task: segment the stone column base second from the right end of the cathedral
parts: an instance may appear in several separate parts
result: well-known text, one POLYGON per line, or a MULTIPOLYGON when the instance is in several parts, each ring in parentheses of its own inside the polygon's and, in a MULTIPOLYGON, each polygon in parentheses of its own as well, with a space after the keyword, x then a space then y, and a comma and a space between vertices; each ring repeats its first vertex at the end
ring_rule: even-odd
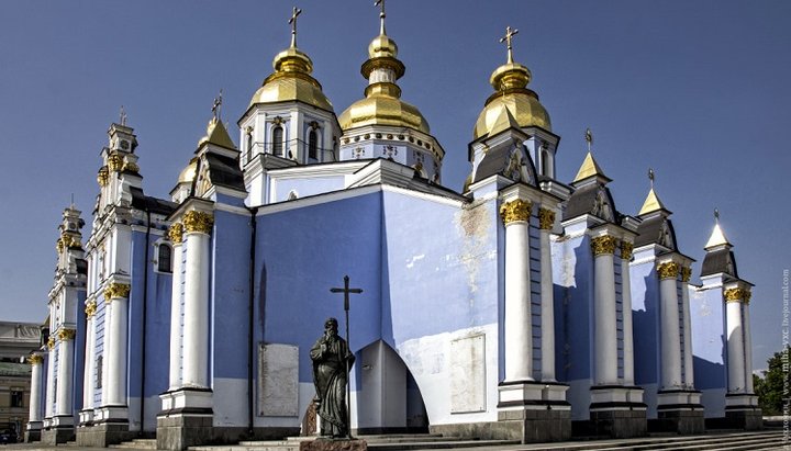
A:
POLYGON ((680 435, 703 433, 703 405, 695 390, 661 390, 657 393, 657 419, 650 421, 651 431, 680 435))

